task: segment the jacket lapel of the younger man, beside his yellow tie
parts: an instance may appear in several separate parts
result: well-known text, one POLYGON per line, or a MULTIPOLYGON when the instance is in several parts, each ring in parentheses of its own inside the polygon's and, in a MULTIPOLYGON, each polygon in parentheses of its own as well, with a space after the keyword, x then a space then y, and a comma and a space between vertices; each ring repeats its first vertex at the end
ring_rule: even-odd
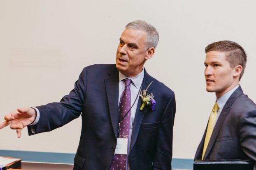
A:
MULTIPOLYGON (((239 86, 235 91, 234 93, 229 97, 228 101, 226 102, 226 104, 224 105, 220 115, 219 115, 219 118, 216 122, 216 125, 212 131, 212 136, 210 138, 210 141, 209 141, 209 144, 207 146, 207 149, 205 151, 205 156, 204 156, 204 159, 208 156, 209 152, 212 150, 212 146, 214 145, 215 141, 216 141, 216 138, 219 134, 219 131, 221 129, 221 126, 224 122, 224 120, 226 119, 230 109, 231 109, 231 106, 233 104, 233 102, 237 99, 238 96, 242 95, 243 94, 243 91, 242 91, 242 88, 239 86)), ((205 136, 205 135, 204 135, 205 136)), ((203 147, 203 145, 202 145, 203 147)))

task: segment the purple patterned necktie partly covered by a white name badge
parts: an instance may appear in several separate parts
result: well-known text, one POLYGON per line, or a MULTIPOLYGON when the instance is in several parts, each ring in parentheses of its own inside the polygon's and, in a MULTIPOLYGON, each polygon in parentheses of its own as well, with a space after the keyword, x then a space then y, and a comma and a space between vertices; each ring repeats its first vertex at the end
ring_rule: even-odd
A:
MULTIPOLYGON (((130 133, 130 83, 131 79, 123 79, 126 84, 125 89, 120 97, 119 103, 119 138, 128 138, 130 133)), ((110 170, 126 170, 127 155, 114 154, 110 170)))

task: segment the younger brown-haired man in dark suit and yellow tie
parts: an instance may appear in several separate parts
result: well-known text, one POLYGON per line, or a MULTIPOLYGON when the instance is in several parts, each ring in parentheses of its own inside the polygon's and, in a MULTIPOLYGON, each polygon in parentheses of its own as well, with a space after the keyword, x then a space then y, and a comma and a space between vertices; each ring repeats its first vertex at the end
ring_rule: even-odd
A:
POLYGON ((215 92, 216 103, 195 159, 256 161, 256 104, 239 85, 247 54, 233 41, 212 43, 205 52, 206 90, 215 92))

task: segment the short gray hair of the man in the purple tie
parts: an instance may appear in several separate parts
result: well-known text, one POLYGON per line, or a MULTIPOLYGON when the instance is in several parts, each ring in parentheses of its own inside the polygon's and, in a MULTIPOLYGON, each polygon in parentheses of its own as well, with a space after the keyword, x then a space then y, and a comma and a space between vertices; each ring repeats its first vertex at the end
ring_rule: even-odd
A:
POLYGON ((133 22, 128 23, 126 25, 126 28, 141 29, 141 30, 147 32, 147 39, 145 41, 145 45, 146 45, 145 50, 147 50, 151 47, 156 48, 156 46, 158 44, 158 40, 159 40, 159 34, 153 25, 147 23, 144 20, 135 20, 133 22))

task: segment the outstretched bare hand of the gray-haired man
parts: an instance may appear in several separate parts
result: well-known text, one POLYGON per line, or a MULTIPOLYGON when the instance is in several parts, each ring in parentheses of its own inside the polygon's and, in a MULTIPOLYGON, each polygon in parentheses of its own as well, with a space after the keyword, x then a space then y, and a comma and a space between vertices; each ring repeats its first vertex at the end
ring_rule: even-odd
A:
POLYGON ((5 115, 5 121, 0 123, 0 129, 10 125, 11 129, 16 129, 18 138, 21 137, 21 130, 35 121, 37 112, 31 107, 18 108, 5 115))

